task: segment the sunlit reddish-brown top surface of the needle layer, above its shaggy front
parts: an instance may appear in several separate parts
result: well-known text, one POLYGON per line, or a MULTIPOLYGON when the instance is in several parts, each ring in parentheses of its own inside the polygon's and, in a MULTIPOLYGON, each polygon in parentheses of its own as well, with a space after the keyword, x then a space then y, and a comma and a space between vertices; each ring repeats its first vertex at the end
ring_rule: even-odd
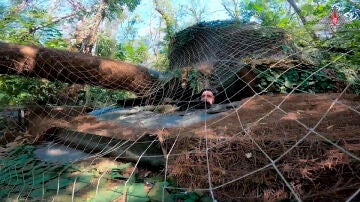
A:
MULTIPOLYGON (((271 135, 277 133, 269 130, 283 128, 286 124, 286 127, 288 129, 291 127, 292 130, 288 135, 297 136, 296 134, 299 132, 297 130, 301 132, 303 130, 301 128, 304 128, 297 127, 300 126, 298 122, 309 128, 314 127, 338 96, 339 94, 293 94, 288 97, 286 95, 263 95, 244 99, 236 111, 229 109, 220 118, 208 120, 206 133, 208 137, 214 135, 216 138, 220 138, 237 136, 243 132, 244 128, 252 130, 266 128, 268 130, 266 137, 272 138, 271 135), (282 101, 281 110, 276 109, 276 105, 282 101), (295 124, 296 127, 291 124, 295 124)), ((338 136, 340 132, 344 136, 352 134, 353 131, 359 131, 359 110, 360 96, 343 95, 332 106, 324 120, 317 126, 316 131, 325 132, 329 136, 338 136)), ((49 127, 62 126, 118 138, 137 138, 144 133, 160 133, 165 138, 168 135, 170 137, 176 135, 179 131, 181 136, 194 137, 194 133, 196 136, 205 134, 204 122, 186 128, 149 130, 130 125, 119 125, 114 122, 97 121, 93 116, 84 115, 84 113, 84 109, 81 108, 35 109, 29 118, 28 131, 30 134, 39 135, 49 127)))

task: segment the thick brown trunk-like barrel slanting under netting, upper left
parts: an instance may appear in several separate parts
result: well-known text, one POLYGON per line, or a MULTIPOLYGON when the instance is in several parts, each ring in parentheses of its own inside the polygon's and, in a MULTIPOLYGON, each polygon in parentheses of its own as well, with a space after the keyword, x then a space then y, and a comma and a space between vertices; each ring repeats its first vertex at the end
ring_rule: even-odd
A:
POLYGON ((91 55, 0 42, 0 74, 90 84, 108 89, 151 93, 157 79, 145 67, 91 55))

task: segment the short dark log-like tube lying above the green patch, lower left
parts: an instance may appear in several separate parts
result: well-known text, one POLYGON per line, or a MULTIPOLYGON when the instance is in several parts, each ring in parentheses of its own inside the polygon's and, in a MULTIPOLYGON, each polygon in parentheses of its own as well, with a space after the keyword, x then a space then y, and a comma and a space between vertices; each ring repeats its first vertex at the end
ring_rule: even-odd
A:
POLYGON ((126 138, 111 138, 84 133, 66 128, 54 127, 46 132, 49 140, 60 141, 64 145, 82 149, 91 154, 115 157, 117 160, 139 162, 148 168, 165 165, 164 153, 156 135, 144 135, 137 141, 126 138))

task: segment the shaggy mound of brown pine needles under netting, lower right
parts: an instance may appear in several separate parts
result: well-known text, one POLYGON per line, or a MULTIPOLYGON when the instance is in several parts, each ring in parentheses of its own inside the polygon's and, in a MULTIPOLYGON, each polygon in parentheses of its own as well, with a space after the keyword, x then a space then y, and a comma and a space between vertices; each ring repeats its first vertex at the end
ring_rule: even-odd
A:
MULTIPOLYGON (((208 162, 216 198, 275 201, 290 197, 289 190, 276 175, 269 159, 251 137, 270 158, 277 160, 277 167, 292 182, 292 188, 302 199, 331 201, 346 198, 360 185, 358 160, 316 134, 309 133, 297 122, 309 127, 316 125, 337 96, 293 95, 281 107, 287 114, 275 110, 259 122, 258 119, 274 108, 267 101, 276 105, 283 97, 260 96, 250 98, 248 102, 245 100, 237 113, 246 133, 239 125, 233 124, 232 120, 237 120, 235 112, 229 112, 220 121, 209 121, 207 138, 203 125, 186 128, 172 150, 174 155, 169 157, 169 176, 189 190, 206 189, 209 186, 208 162), (208 141, 207 147, 205 141, 208 141), (207 148, 209 161, 205 154, 207 148)), ((331 109, 316 131, 359 156, 360 117, 348 106, 358 108, 360 97, 349 95, 339 101, 341 103, 331 109)), ((172 134, 176 134, 176 130, 172 134)), ((173 139, 167 141, 171 145, 173 139)))

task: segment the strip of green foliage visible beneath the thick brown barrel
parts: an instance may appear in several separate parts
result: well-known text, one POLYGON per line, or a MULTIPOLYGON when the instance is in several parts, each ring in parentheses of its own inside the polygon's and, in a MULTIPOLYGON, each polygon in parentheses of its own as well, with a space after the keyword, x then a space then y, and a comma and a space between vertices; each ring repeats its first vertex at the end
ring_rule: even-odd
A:
MULTIPOLYGON (((68 85, 65 83, 49 82, 45 79, 3 75, 0 76, 0 106, 64 104, 61 99, 65 97, 58 96, 66 86, 68 85)), ((123 90, 109 90, 97 86, 89 88, 92 106, 113 105, 119 99, 133 97, 132 93, 123 90)), ((80 91, 77 98, 70 98, 65 104, 84 105, 85 102, 85 91, 80 91)))

